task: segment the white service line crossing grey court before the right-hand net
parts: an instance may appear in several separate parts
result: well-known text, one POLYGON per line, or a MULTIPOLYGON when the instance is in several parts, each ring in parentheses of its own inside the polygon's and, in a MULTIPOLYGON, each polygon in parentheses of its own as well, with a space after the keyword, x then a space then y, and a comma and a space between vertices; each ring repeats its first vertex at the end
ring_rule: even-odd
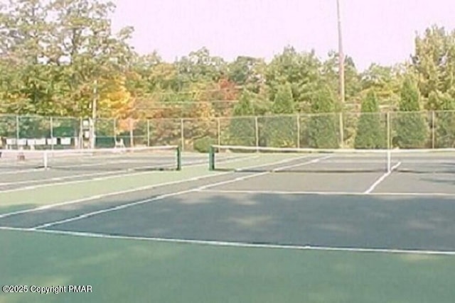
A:
POLYGON ((315 195, 315 196, 384 196, 384 197, 455 197, 454 194, 443 192, 304 192, 304 191, 285 191, 285 190, 242 190, 242 189, 200 189, 198 192, 213 194, 295 194, 295 195, 315 195))

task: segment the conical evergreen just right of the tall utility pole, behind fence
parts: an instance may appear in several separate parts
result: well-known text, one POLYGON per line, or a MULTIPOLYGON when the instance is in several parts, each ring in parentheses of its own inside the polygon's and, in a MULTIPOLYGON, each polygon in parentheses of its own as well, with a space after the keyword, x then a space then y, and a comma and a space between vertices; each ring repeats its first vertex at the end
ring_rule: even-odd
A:
POLYGON ((381 126, 378 99, 369 91, 362 102, 362 114, 358 121, 355 148, 384 148, 384 128, 381 126))

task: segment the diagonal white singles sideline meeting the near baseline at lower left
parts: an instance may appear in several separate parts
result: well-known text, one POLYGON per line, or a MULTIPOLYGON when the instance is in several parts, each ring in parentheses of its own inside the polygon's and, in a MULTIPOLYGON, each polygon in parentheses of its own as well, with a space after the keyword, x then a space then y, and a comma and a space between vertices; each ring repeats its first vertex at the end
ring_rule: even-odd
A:
MULTIPOLYGON (((297 160, 297 159, 300 159, 300 158, 308 158, 308 156, 281 160, 281 161, 278 161, 278 162, 274 162, 274 165, 285 163, 285 162, 291 162, 292 160, 297 160)), ((314 160, 316 160, 316 159, 314 159, 314 160)), ((314 160, 311 160, 308 163, 314 162, 314 160)), ((272 165, 272 164, 269 163, 269 165, 272 165)), ((262 165, 262 166, 265 166, 265 165, 262 165)), ((230 173, 232 173, 232 172, 224 172, 224 173, 221 173, 219 175, 227 175, 227 174, 230 174, 230 173)), ((127 209, 127 208, 129 208, 131 206, 137 206, 137 205, 141 205, 141 204, 156 202, 156 201, 159 201, 159 200, 162 200, 162 199, 166 199, 168 197, 174 197, 174 196, 178 196, 178 195, 181 195, 181 194, 188 194, 190 192, 198 192, 198 191, 200 191, 200 189, 206 189, 208 187, 215 187, 215 186, 218 186, 218 185, 221 185, 221 184, 228 184, 228 183, 232 183, 232 182, 247 180, 247 179, 250 179, 250 178, 253 178, 253 177, 259 177, 261 175, 266 175, 268 173, 270 173, 270 172, 259 172, 259 173, 252 174, 252 175, 247 175, 247 176, 244 176, 244 177, 236 177, 234 179, 225 180, 225 181, 222 181, 222 182, 210 183, 210 184, 203 185, 203 186, 200 186, 200 187, 196 187, 196 188, 193 188, 193 189, 186 189, 186 190, 183 190, 183 191, 180 191, 180 192, 171 192, 169 194, 161 194, 161 195, 159 195, 157 197, 154 197, 154 198, 151 198, 151 199, 144 199, 144 200, 141 200, 141 201, 132 202, 132 203, 128 203, 128 204, 122 204, 122 205, 110 207, 110 208, 107 208, 107 209, 100 209, 99 211, 92 211, 92 212, 81 214, 81 215, 78 215, 78 216, 74 216, 74 217, 71 217, 71 218, 68 218, 68 219, 63 219, 63 220, 60 220, 60 221, 53 221, 53 222, 49 222, 49 223, 46 223, 46 224, 41 224, 41 225, 35 226, 33 228, 34 229, 48 228, 48 227, 55 226, 55 225, 61 225, 61 224, 65 224, 65 223, 69 223, 69 222, 73 222, 73 221, 78 221, 80 219, 87 219, 87 218, 89 218, 91 216, 97 216, 99 214, 106 214, 108 212, 118 211, 120 209, 127 209)), ((213 175, 208 175, 208 177, 213 177, 213 175)))

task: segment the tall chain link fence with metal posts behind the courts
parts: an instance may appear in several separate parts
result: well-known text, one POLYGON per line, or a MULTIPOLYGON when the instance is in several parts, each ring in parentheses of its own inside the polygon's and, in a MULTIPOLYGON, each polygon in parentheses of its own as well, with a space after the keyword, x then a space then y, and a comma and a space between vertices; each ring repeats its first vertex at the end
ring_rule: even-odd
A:
MULTIPOLYGON (((87 148, 90 121, 0 115, 0 147, 87 148)), ((455 148, 455 111, 232 116, 203 119, 97 119, 95 148, 210 145, 277 148, 455 148)))

